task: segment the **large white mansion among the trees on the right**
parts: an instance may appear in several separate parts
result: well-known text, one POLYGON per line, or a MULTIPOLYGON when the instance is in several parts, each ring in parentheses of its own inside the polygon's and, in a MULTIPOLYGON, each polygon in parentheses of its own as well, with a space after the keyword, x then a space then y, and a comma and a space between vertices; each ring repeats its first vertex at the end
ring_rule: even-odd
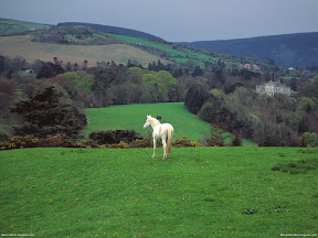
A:
POLYGON ((292 90, 290 87, 279 82, 267 82, 262 85, 256 85, 256 93, 274 96, 275 94, 282 94, 288 97, 295 96, 297 93, 292 90))

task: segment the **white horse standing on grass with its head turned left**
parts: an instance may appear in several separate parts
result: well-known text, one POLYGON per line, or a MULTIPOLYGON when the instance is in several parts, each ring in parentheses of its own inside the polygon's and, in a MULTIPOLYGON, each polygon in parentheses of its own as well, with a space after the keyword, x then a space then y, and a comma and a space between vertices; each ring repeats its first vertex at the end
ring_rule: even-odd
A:
POLYGON ((167 139, 168 139, 168 153, 171 153, 171 140, 173 136, 173 127, 170 123, 160 123, 156 118, 147 115, 146 123, 144 125, 144 129, 152 127, 152 139, 153 139, 153 154, 152 158, 156 156, 156 145, 157 140, 161 138, 162 140, 162 149, 163 149, 163 160, 167 159, 167 139))

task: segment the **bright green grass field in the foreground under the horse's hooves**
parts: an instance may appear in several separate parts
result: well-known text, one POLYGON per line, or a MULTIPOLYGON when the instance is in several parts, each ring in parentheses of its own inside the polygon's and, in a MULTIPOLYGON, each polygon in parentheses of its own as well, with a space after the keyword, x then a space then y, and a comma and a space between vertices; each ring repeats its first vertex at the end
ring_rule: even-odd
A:
POLYGON ((1 234, 280 237, 317 234, 317 149, 23 149, 0 152, 1 234), (295 169, 295 167, 294 167, 295 169), (299 171, 303 172, 303 171, 299 171))

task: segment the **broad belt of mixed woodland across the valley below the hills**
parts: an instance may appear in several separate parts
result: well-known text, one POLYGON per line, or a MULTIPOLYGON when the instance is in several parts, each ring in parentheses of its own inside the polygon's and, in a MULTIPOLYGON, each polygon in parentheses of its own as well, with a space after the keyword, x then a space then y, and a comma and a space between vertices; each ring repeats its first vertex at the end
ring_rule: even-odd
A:
POLYGON ((280 79, 297 97, 269 97, 255 87, 273 79, 273 72, 229 71, 222 64, 189 71, 160 61, 147 68, 130 61, 87 65, 0 56, 0 138, 30 131, 78 137, 87 123, 85 108, 184 101, 202 120, 259 145, 317 145, 318 76, 280 79), (28 68, 34 73, 25 73, 28 68), (52 127, 62 119, 59 128, 52 127), (40 125, 43 120, 49 122, 40 125))

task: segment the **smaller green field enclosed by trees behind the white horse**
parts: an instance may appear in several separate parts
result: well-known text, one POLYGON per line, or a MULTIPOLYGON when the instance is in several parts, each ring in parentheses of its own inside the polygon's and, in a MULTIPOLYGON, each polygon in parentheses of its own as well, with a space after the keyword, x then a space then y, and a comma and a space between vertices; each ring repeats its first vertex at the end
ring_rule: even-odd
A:
MULTIPOLYGON (((86 137, 93 131, 99 130, 135 130, 144 137, 152 133, 152 129, 144 130, 147 115, 152 117, 161 116, 161 122, 171 123, 174 128, 174 139, 183 136, 192 141, 199 141, 204 134, 210 133, 210 125, 202 121, 195 115, 189 112, 183 102, 171 104, 142 104, 120 105, 107 108, 86 109, 88 126, 84 133, 86 137)), ((255 145, 254 142, 244 140, 244 145, 255 145)))

